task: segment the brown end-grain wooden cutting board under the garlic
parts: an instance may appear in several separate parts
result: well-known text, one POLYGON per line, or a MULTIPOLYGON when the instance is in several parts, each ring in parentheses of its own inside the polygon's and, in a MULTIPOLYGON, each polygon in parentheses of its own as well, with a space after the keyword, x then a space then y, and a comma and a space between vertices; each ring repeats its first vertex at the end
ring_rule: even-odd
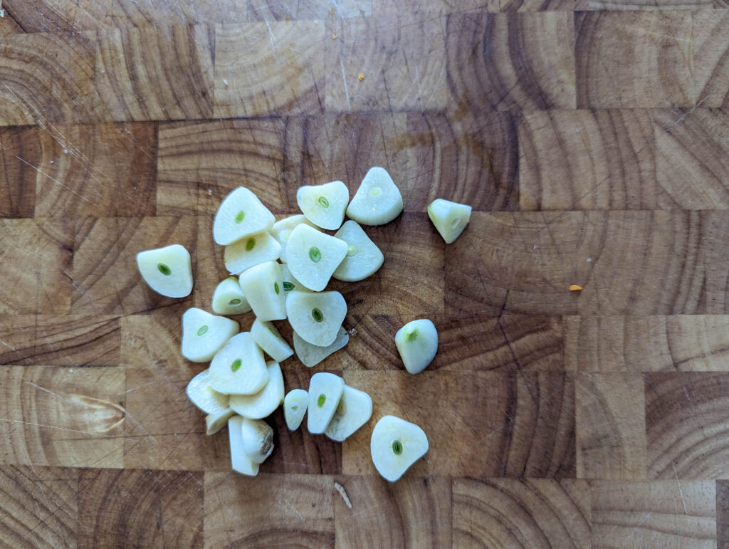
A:
POLYGON ((727 7, 4 0, 1 545, 727 546, 727 7), (179 354, 225 276, 212 215, 371 166, 405 199, 367 229, 385 264, 331 285, 346 349, 282 367, 340 373, 373 419, 339 444, 277 412, 233 474, 179 354), (448 246, 437 197, 474 210, 448 246), (183 300, 135 266, 171 243, 183 300), (421 317, 440 348, 411 376, 393 337, 421 317), (387 413, 430 441, 395 484, 387 413))

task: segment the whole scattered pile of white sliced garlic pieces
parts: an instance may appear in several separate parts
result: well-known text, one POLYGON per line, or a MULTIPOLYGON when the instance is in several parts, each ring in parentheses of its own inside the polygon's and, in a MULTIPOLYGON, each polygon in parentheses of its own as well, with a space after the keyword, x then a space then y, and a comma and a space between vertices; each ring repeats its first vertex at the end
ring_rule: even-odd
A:
MULTIPOLYGON (((215 288, 211 308, 216 314, 193 307, 182 315, 182 355, 210 362, 192 378, 187 396, 207 414, 208 435, 227 424, 231 464, 243 475, 257 475, 273 451, 273 429, 263 419, 282 403, 289 429, 298 429, 308 412, 308 431, 337 441, 346 440, 373 413, 370 395, 332 373, 316 373, 308 391, 284 395, 280 363, 296 352, 313 367, 346 346, 347 305, 340 292, 326 291, 327 284, 332 278, 359 281, 381 268, 383 253, 361 225, 392 221, 402 211, 402 195, 387 171, 375 167, 351 201, 346 184, 335 181, 300 187, 297 203, 303 214, 276 222, 246 187, 230 192, 215 216, 213 237, 225 246, 231 276, 215 288), (238 322, 223 316, 249 311, 255 315, 249 332, 240 332, 238 322), (294 349, 273 324, 284 319, 293 329, 294 349)), ((464 230, 470 211, 442 199, 428 208, 448 243, 464 230)), ((191 261, 183 246, 140 252, 137 263, 155 291, 190 295, 191 261)), ((429 320, 418 319, 405 324, 395 342, 406 369, 419 373, 436 354, 437 330, 429 320)), ((428 440, 416 424, 384 416, 375 425, 370 450, 378 472, 394 481, 426 453, 428 440)))

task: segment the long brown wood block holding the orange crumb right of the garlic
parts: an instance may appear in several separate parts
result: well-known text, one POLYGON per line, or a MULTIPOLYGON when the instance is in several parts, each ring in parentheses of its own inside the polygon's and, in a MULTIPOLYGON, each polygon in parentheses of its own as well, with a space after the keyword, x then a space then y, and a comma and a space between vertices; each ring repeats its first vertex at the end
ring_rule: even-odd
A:
POLYGON ((446 311, 708 312, 706 287, 722 276, 714 273, 722 252, 708 244, 710 219, 668 211, 474 213, 445 251, 446 311), (478 252, 464 263, 467 250, 478 252), (583 289, 569 292, 570 284, 583 289))

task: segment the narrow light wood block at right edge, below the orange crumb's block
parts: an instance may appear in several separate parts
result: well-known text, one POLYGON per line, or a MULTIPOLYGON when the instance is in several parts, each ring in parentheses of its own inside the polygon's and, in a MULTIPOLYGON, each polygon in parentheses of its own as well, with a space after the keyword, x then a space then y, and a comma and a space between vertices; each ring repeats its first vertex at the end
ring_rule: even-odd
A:
POLYGON ((599 372, 729 369, 727 318, 722 315, 568 316, 567 369, 599 372))

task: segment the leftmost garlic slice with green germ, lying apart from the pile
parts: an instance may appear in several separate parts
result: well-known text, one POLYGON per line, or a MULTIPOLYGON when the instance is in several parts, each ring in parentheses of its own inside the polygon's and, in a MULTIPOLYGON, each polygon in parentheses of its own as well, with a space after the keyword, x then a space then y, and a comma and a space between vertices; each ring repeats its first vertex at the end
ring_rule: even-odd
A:
POLYGON ((145 250, 136 255, 141 278, 160 295, 187 297, 192 292, 190 252, 180 244, 145 250))

